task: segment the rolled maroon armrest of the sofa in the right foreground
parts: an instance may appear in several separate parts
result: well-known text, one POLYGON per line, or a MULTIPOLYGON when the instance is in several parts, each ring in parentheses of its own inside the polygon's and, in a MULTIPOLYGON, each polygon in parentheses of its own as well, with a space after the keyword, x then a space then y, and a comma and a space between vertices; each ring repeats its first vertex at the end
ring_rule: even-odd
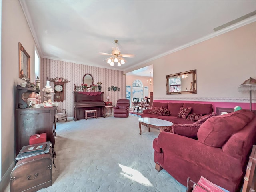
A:
MULTIPOLYGON (((225 154, 221 148, 207 146, 198 140, 181 135, 160 132, 158 146, 168 155, 178 156, 188 162, 207 168, 214 174, 233 172, 235 176, 242 175, 240 159, 225 154)), ((228 176, 228 175, 227 175, 228 176)))

